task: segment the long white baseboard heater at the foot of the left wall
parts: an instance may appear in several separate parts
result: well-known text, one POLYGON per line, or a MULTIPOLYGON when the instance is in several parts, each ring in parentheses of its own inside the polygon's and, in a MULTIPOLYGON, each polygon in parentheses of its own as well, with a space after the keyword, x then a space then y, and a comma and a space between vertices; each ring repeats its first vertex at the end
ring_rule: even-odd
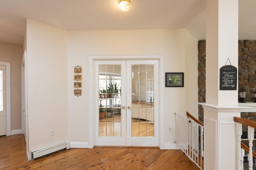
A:
POLYGON ((51 145, 49 147, 44 147, 42 149, 34 150, 32 151, 32 159, 39 158, 41 156, 45 156, 62 149, 70 149, 70 142, 64 141, 61 143, 57 143, 55 145, 51 145))

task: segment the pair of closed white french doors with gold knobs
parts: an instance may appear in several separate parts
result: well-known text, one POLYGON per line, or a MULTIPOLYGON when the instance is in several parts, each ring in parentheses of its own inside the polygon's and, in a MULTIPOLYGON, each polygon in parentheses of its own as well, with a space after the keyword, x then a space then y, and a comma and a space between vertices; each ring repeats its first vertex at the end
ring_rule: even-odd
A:
POLYGON ((96 61, 95 144, 158 146, 158 61, 96 61))

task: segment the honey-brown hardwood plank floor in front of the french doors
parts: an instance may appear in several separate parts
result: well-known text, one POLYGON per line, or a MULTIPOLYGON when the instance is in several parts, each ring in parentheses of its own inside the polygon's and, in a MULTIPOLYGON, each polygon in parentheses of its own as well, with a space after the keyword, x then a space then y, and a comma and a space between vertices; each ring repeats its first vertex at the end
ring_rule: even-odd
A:
POLYGON ((0 137, 4 170, 199 170, 181 150, 138 147, 68 149, 28 161, 22 134, 0 137))

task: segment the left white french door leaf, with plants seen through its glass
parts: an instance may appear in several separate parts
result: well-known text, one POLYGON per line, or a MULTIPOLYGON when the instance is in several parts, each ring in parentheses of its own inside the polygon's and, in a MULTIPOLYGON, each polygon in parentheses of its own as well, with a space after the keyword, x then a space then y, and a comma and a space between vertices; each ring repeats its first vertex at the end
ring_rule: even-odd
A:
POLYGON ((95 145, 125 146, 126 61, 96 61, 95 68, 95 84, 98 87, 95 93, 98 96, 95 145), (119 90, 114 92, 112 85, 119 90))

